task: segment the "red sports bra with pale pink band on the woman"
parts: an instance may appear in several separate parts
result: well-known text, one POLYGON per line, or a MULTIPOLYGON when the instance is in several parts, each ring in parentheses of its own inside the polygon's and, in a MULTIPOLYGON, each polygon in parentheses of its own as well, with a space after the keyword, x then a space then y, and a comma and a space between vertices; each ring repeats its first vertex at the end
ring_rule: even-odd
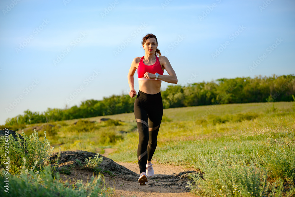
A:
MULTIPOLYGON (((148 79, 145 79, 145 76, 144 74, 146 72, 149 72, 149 73, 153 73, 155 74, 156 72, 163 75, 164 71, 162 70, 162 66, 160 64, 160 61, 159 61, 159 58, 156 57, 156 62, 155 64, 153 65, 145 65, 145 63, 143 63, 143 57, 140 59, 140 62, 139 62, 139 65, 138 65, 138 68, 137 68, 137 75, 138 75, 138 80, 148 80, 148 79)), ((155 79, 149 79, 149 80, 155 80, 155 79)), ((160 79, 157 79, 157 80, 160 80, 160 79)), ((161 81, 161 80, 160 80, 161 81)))

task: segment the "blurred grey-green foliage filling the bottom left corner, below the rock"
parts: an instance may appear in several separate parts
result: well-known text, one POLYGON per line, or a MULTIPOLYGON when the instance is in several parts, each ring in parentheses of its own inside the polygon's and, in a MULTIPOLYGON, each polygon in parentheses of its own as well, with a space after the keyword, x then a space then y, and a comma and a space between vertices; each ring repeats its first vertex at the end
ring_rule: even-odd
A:
MULTIPOLYGON (((25 159, 24 159, 25 161, 25 159)), ((25 164, 25 162, 24 162, 25 164)), ((26 164, 25 164, 26 165, 26 164)), ((1 188, 4 188, 6 176, 9 180, 9 190, 2 191, 2 196, 35 196, 35 197, 80 197, 80 196, 109 196, 113 189, 106 188, 102 182, 101 175, 92 176, 91 181, 85 185, 82 180, 78 180, 72 187, 69 183, 59 182, 59 174, 55 173, 55 178, 51 175, 50 167, 44 168, 44 171, 36 171, 36 166, 28 170, 22 167, 19 175, 5 175, 5 171, 0 172, 1 188)))

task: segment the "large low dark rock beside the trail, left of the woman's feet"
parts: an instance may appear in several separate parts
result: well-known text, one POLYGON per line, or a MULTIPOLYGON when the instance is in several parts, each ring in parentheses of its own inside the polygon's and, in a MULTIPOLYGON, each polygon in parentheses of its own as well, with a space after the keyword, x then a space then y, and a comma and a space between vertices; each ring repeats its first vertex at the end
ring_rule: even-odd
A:
MULTIPOLYGON (((52 154, 52 156, 49 158, 49 161, 51 163, 56 163, 57 155, 59 152, 55 152, 52 154)), ((89 159, 89 157, 94 158, 96 156, 96 153, 93 152, 87 152, 87 151, 61 151, 60 157, 58 161, 58 170, 60 170, 61 167, 69 167, 70 165, 74 165, 76 167, 79 167, 78 162, 76 159, 81 160, 82 162, 86 159, 89 159)), ((107 157, 104 157, 102 155, 99 155, 102 157, 102 163, 99 165, 99 168, 102 170, 109 170, 114 175, 131 175, 131 176, 137 176, 135 172, 132 172, 131 170, 127 169, 124 166, 121 166, 114 162, 112 159, 109 159, 107 157)), ((54 165, 54 164, 53 164, 54 165)))

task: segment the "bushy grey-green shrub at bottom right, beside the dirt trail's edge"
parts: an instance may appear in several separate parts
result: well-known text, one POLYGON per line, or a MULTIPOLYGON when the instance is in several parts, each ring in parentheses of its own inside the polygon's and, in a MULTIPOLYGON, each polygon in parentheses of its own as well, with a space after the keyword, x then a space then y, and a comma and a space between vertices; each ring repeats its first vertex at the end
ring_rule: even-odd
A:
POLYGON ((253 163, 247 165, 225 155, 219 155, 218 160, 204 158, 202 163, 203 178, 191 175, 196 185, 190 187, 197 196, 256 196, 264 191, 259 187, 266 185, 266 172, 253 163))

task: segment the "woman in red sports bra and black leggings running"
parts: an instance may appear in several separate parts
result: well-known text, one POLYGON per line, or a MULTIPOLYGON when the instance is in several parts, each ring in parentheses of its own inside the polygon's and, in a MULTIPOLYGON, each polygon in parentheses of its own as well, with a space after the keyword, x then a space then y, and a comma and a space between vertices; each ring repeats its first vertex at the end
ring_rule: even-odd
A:
POLYGON ((157 146, 157 136, 163 116, 161 82, 177 84, 177 77, 165 56, 161 56, 155 35, 147 34, 142 38, 145 56, 134 58, 128 73, 130 97, 136 96, 134 73, 137 69, 139 91, 134 102, 134 115, 139 133, 137 159, 140 169, 138 182, 146 185, 148 177, 154 175, 153 154, 157 146), (158 56, 159 57, 158 57, 158 56), (163 75, 166 69, 169 75, 163 75))

